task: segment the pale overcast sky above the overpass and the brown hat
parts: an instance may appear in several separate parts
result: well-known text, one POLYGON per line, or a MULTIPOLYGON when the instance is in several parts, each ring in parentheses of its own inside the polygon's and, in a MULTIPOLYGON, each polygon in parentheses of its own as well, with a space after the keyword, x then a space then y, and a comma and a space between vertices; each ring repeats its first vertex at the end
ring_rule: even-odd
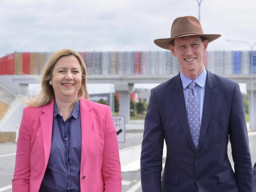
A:
MULTIPOLYGON (((176 17, 198 17, 197 0, 0 0, 0 57, 17 52, 160 51, 176 17)), ((249 50, 256 42, 255 0, 202 0, 208 50, 249 50)), ((256 46, 254 46, 256 50, 256 46)))

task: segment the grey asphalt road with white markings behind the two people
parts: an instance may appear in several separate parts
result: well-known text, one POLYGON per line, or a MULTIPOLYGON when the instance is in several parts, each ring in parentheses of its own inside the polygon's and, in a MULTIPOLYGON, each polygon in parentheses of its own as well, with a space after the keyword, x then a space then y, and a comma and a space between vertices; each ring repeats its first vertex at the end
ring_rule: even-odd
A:
MULTIPOLYGON (((254 135, 249 135, 251 149, 254 149, 253 146, 255 146, 256 143, 256 137, 254 137, 254 135)), ((119 143, 119 154, 122 168, 122 192, 142 191, 139 168, 142 137, 142 133, 126 133, 126 142, 119 143)), ((16 143, 0 144, 0 192, 11 192, 11 180, 13 178, 15 165, 15 152, 16 143)), ((251 151, 251 154, 254 154, 254 151, 251 151)), ((230 157, 230 162, 233 165, 230 144, 228 145, 228 156, 230 157)), ((255 155, 252 155, 252 157, 254 156, 255 155)), ((163 162, 165 162, 165 157, 163 158, 163 162)))

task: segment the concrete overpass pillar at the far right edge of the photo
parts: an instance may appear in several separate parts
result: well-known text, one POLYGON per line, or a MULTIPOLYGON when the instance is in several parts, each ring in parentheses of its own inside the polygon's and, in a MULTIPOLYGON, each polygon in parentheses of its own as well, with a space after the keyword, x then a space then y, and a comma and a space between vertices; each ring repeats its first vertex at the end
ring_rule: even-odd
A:
POLYGON ((251 83, 247 82, 247 94, 249 98, 249 122, 250 122, 250 130, 256 130, 256 83, 253 83, 253 91, 251 89, 251 83), (253 98, 251 95, 253 92, 253 98), (253 99, 253 100, 252 100, 253 99))

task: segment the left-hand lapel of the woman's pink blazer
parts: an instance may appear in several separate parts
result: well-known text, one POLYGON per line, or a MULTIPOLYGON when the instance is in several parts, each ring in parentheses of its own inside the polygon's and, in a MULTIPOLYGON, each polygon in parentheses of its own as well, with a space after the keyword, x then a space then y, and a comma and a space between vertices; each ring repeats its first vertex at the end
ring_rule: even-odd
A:
POLYGON ((48 163, 52 142, 53 108, 54 100, 52 100, 51 103, 43 106, 42 112, 44 114, 40 117, 43 146, 45 150, 45 167, 48 163))

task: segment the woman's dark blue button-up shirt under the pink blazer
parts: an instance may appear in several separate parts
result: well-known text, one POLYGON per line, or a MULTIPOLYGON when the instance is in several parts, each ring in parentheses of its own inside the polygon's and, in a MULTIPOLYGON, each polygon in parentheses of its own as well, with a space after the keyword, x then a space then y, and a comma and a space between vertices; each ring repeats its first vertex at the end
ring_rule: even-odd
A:
POLYGON ((81 119, 80 104, 66 121, 54 100, 50 157, 40 192, 80 192, 81 119))

